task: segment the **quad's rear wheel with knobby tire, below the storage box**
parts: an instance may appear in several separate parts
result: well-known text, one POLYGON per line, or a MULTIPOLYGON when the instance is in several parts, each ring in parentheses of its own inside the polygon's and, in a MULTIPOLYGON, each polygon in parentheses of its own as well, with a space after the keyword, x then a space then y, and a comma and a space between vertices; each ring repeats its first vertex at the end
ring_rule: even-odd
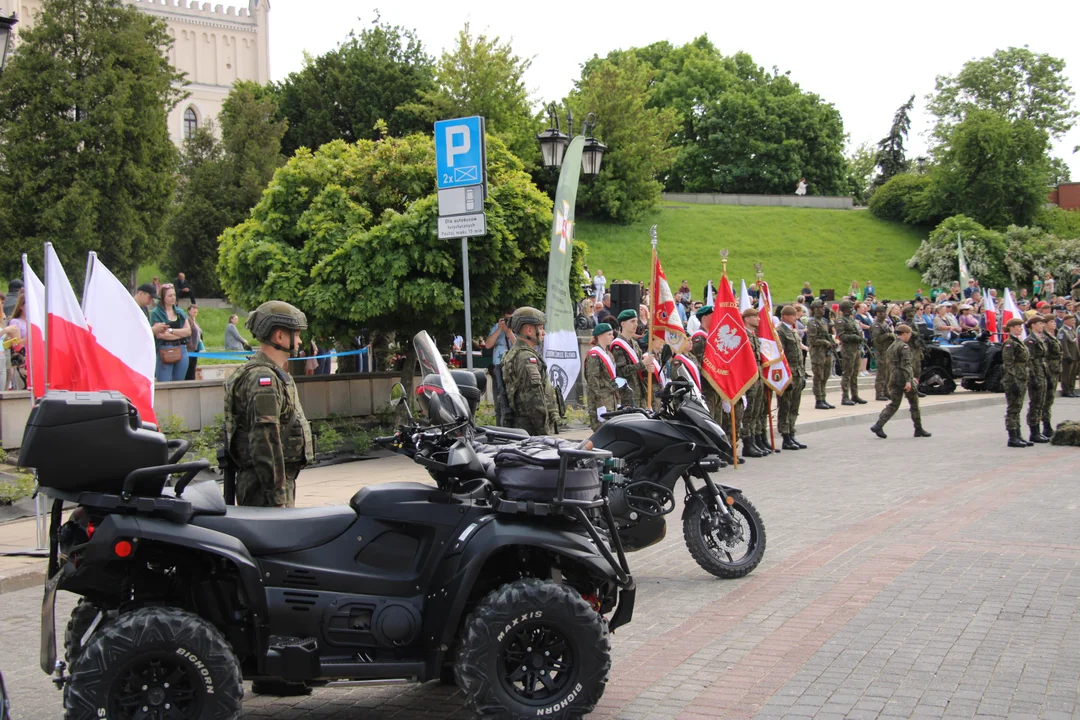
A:
POLYGON ((243 696, 240 665, 217 628, 183 610, 141 608, 90 637, 64 689, 64 717, 234 720, 243 696))

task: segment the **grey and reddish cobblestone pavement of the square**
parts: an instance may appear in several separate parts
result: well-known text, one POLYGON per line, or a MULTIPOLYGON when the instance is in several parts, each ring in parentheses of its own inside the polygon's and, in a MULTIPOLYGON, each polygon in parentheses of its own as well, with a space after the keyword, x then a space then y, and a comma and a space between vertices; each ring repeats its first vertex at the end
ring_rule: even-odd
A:
MULTIPOLYGON (((1080 420, 1058 399, 1057 420, 1080 420)), ((1003 407, 808 435, 751 460, 765 561, 719 581, 675 525, 631 556, 634 622, 594 718, 1080 717, 1080 449, 1004 447, 1003 407)), ((0 596, 15 718, 55 718, 37 669, 41 593, 0 596)), ((63 617, 71 606, 64 598, 63 617)), ((245 718, 464 718, 435 683, 249 696, 245 718)))

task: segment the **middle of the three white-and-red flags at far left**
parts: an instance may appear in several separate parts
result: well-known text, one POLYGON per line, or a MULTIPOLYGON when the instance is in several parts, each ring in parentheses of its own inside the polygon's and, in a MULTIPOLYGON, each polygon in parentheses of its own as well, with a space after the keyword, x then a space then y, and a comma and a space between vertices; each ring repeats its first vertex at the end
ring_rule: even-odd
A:
POLYGON ((45 288, 49 389, 103 390, 98 385, 97 342, 52 243, 45 243, 45 288))

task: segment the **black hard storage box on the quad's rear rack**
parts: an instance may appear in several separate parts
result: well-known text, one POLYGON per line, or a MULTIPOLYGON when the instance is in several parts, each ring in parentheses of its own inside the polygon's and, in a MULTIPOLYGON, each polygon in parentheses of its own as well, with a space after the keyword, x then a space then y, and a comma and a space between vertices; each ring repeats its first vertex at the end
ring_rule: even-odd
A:
MULTIPOLYGON (((168 462, 165 436, 145 430, 118 392, 50 391, 30 410, 18 464, 38 471, 41 487, 119 493, 134 470, 168 462)), ((167 476, 136 488, 157 495, 167 476)))

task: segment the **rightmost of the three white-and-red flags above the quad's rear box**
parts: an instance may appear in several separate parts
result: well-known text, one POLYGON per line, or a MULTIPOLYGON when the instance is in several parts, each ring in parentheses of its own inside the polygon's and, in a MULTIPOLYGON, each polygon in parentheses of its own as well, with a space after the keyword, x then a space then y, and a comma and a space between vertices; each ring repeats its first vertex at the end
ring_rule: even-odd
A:
POLYGON ((127 288, 90 254, 90 276, 82 310, 95 342, 98 388, 116 390, 132 402, 139 418, 157 423, 153 413, 153 332, 127 288))

